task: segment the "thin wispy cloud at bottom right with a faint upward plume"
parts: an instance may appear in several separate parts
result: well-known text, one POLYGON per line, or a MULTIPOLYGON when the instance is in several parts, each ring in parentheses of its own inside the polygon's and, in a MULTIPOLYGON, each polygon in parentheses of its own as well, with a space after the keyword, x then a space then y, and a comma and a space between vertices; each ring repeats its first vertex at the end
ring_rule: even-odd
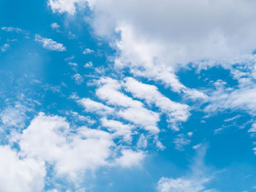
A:
POLYGON ((206 188, 206 184, 213 179, 213 174, 203 164, 203 158, 206 153, 206 147, 201 146, 197 149, 197 155, 191 166, 192 172, 184 177, 166 178, 162 177, 157 189, 159 192, 217 192, 215 189, 206 188))

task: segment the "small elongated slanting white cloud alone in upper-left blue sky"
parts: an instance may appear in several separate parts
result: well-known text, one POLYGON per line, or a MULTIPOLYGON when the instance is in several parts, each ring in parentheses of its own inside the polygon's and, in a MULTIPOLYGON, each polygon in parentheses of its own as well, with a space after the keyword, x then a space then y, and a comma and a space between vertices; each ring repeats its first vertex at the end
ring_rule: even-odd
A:
POLYGON ((53 39, 47 39, 44 37, 41 37, 39 34, 35 35, 36 42, 39 42, 42 44, 42 47, 44 47, 47 50, 56 50, 56 51, 66 51, 67 48, 64 47, 61 43, 54 42, 53 39))

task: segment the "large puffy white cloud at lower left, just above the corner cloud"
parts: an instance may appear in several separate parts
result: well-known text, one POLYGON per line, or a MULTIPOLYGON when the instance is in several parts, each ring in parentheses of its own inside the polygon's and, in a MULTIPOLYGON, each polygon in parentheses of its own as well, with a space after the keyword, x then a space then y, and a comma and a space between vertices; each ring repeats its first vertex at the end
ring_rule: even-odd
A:
POLYGON ((105 131, 80 127, 71 132, 58 116, 40 113, 20 135, 20 153, 47 161, 57 175, 77 179, 78 173, 108 165, 114 143, 105 131))

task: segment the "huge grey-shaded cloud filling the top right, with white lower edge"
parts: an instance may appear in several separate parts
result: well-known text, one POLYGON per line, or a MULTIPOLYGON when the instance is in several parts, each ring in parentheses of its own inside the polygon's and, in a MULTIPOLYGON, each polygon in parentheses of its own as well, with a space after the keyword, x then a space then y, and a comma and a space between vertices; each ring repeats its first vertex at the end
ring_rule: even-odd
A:
POLYGON ((53 12, 70 15, 88 4, 96 34, 107 39, 113 31, 121 34, 121 39, 113 39, 119 53, 117 67, 160 80, 192 99, 206 96, 178 81, 175 72, 181 66, 231 61, 251 53, 256 45, 255 1, 50 0, 48 4, 53 12))

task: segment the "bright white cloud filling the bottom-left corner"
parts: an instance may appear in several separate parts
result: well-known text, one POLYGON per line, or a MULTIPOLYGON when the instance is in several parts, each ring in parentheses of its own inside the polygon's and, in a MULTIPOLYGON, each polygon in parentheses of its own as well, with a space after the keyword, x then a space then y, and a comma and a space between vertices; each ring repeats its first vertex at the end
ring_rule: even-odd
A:
POLYGON ((44 188, 45 164, 20 158, 10 146, 0 146, 0 188, 6 192, 40 192, 44 188))

